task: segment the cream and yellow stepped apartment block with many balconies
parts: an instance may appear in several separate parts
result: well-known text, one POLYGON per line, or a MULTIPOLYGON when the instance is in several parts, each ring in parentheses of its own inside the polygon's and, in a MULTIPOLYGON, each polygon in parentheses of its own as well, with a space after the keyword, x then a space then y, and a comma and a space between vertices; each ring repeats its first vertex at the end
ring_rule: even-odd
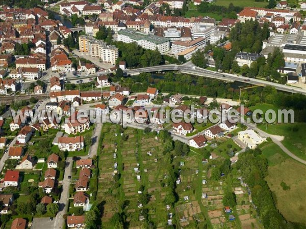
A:
POLYGON ((107 45, 104 41, 96 40, 88 36, 79 37, 81 52, 89 52, 91 56, 100 58, 103 62, 115 64, 118 58, 118 48, 107 45))

